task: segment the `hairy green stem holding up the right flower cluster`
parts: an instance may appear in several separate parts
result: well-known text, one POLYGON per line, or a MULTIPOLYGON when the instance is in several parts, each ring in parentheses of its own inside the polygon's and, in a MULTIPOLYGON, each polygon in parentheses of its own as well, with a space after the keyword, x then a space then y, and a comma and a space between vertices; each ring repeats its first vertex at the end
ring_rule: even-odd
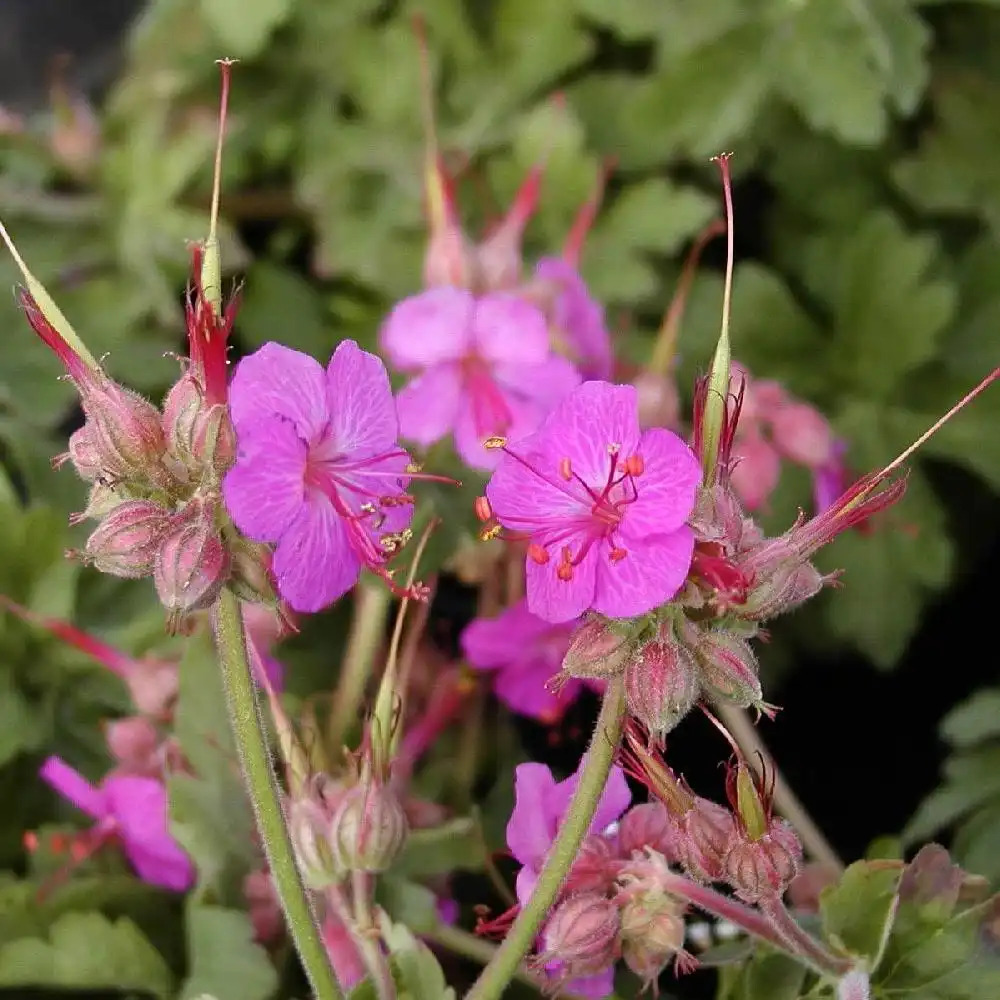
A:
POLYGON ((601 713, 597 717, 590 747, 579 772, 576 791, 534 891, 511 925, 503 944, 466 994, 465 1000, 496 1000, 517 973, 590 828, 618 750, 624 722, 625 686, 621 677, 615 677, 608 681, 604 700, 601 702, 601 713))

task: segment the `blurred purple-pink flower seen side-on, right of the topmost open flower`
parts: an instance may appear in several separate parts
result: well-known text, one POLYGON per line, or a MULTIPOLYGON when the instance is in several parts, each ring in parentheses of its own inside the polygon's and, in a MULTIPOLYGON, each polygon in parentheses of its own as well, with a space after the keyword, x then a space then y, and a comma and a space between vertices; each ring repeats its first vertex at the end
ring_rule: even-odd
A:
POLYGON ((610 378, 614 364, 604 307, 594 299, 579 271, 562 257, 543 257, 535 277, 554 292, 549 319, 553 335, 585 378, 610 378))

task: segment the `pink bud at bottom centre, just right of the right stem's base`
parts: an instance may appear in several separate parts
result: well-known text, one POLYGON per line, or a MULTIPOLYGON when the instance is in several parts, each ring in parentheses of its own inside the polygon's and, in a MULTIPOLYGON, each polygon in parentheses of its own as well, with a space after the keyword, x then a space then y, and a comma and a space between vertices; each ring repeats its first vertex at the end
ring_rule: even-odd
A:
POLYGON ((540 964, 558 962, 566 979, 594 976, 620 954, 617 905, 596 892, 563 900, 542 929, 540 964))

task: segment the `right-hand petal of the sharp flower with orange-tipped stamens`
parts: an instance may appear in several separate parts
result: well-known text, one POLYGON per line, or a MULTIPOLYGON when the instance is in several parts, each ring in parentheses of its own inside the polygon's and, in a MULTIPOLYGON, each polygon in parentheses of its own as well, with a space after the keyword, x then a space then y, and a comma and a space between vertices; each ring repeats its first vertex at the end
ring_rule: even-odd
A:
POLYGON ((666 534, 684 524, 701 482, 698 459, 673 431, 662 427, 646 431, 638 453, 642 475, 635 479, 635 502, 628 505, 622 519, 622 534, 636 544, 648 535, 666 534))

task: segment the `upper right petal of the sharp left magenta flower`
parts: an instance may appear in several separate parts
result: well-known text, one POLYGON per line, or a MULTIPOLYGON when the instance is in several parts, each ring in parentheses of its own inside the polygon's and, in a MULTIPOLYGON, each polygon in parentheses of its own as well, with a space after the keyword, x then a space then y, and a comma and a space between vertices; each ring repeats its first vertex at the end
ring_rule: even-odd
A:
POLYGON ((340 454, 377 455, 396 445, 399 421, 382 359, 344 340, 326 369, 329 443, 340 454))

